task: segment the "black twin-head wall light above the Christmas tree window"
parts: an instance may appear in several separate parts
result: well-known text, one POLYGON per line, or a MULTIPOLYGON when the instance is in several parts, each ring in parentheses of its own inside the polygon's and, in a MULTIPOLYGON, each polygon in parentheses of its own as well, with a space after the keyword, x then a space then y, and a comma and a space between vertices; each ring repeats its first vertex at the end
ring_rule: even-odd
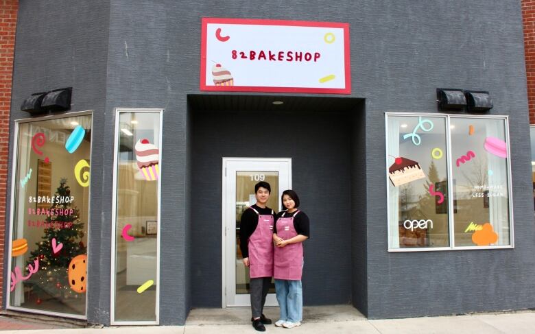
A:
POLYGON ((71 110, 71 95, 73 88, 60 88, 53 91, 35 93, 24 100, 21 110, 32 115, 43 112, 62 112, 71 110))

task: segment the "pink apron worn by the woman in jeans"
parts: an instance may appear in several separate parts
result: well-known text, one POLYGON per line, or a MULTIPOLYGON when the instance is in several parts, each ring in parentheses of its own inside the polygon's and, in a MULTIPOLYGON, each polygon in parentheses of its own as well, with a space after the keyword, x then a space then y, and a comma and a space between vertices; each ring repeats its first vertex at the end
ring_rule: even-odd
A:
MULTIPOLYGON (((294 228, 294 217, 283 217, 277 219, 277 235, 282 239, 292 239, 298 233, 294 228)), ((285 247, 275 247, 274 257, 274 278, 279 280, 300 281, 302 276, 302 242, 289 243, 285 247)))

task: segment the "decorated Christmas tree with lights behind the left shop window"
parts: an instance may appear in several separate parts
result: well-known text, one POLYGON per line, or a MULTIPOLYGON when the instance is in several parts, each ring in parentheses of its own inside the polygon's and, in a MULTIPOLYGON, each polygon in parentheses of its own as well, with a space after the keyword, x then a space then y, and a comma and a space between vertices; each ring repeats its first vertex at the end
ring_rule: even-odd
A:
POLYGON ((34 288, 38 292, 38 303, 46 295, 53 298, 78 298, 78 293, 69 285, 68 267, 73 257, 86 254, 86 246, 82 241, 84 223, 80 221, 73 200, 67 179, 62 178, 47 213, 44 235, 41 237, 43 241, 36 243, 38 248, 31 252, 27 261, 29 264, 34 263, 34 259, 39 259, 39 271, 31 278, 34 287, 37 286, 40 290, 34 288), (56 239, 55 245, 53 239, 56 239))

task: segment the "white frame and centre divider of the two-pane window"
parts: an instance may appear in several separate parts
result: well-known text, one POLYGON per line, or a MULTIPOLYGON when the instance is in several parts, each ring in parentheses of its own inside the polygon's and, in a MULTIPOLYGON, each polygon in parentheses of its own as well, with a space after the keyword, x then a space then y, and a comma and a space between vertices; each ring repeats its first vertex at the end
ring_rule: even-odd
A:
POLYGON ((510 135, 509 135, 509 116, 508 115, 472 115, 472 114, 442 114, 431 112, 385 112, 385 181, 386 181, 386 213, 387 213, 387 241, 388 252, 434 252, 441 250, 495 250, 495 249, 514 249, 514 212, 512 202, 512 178, 511 178, 511 147, 510 147, 510 135), (449 247, 414 247, 414 248, 392 248, 392 235, 391 224, 388 220, 390 218, 390 205, 388 199, 390 198, 390 186, 388 178, 388 117, 439 117, 446 121, 446 151, 444 155, 447 158, 447 176, 448 176, 448 231, 449 231, 449 247), (508 177, 508 205, 509 205, 509 245, 503 246, 455 246, 455 222, 453 213, 453 187, 451 187, 451 180, 453 180, 453 168, 451 158, 451 119, 501 119, 503 120, 503 126, 506 135, 507 149, 509 156, 507 158, 507 177, 508 177))

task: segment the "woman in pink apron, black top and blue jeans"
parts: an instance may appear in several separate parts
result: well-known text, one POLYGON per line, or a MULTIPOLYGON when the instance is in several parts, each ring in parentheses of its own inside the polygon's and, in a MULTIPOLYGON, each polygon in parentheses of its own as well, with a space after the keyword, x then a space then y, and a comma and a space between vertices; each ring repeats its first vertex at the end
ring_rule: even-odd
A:
POLYGON ((302 241, 309 238, 309 217, 299 211, 299 197, 293 190, 283 191, 285 211, 278 213, 273 240, 276 245, 273 276, 281 317, 275 326, 287 329, 300 326, 302 320, 302 241))

